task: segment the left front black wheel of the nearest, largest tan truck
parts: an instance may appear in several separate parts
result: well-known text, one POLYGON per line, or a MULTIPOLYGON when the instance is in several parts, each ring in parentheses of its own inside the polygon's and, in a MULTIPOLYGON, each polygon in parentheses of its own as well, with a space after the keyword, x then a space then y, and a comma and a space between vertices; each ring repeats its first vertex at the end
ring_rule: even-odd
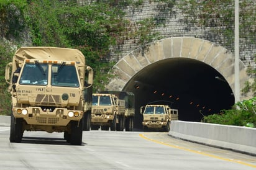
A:
POLYGON ((14 115, 11 115, 10 142, 21 143, 22 136, 22 119, 15 119, 14 115))

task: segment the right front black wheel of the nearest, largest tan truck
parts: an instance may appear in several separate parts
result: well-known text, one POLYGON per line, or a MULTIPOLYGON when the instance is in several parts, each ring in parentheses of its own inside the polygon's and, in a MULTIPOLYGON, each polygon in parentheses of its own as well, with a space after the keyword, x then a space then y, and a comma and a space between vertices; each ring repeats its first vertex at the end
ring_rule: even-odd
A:
POLYGON ((83 138, 83 120, 71 121, 71 134, 70 134, 70 144, 71 145, 81 145, 83 138))

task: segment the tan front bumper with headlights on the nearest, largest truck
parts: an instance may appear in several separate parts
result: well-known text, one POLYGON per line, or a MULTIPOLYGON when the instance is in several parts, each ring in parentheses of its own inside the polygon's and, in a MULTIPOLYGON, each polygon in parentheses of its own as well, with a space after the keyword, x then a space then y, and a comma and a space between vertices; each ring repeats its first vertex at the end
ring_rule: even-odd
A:
POLYGON ((56 108, 43 111, 40 107, 26 107, 12 109, 15 118, 22 118, 28 125, 55 125, 66 126, 71 120, 79 121, 83 119, 83 111, 56 108))

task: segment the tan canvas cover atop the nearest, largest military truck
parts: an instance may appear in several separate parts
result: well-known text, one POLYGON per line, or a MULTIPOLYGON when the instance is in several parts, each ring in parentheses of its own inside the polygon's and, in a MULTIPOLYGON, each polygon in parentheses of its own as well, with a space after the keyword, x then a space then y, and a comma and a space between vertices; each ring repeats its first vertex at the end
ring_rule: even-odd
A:
POLYGON ((80 65, 85 65, 83 53, 73 48, 21 47, 14 53, 13 59, 16 61, 25 59, 76 61, 80 65))

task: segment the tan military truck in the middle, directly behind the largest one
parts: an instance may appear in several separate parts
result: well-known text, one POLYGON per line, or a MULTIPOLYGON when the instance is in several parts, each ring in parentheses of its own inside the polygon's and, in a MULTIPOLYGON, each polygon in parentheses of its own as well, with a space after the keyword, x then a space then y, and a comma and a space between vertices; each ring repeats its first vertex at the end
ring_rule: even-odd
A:
POLYGON ((103 91, 93 94, 91 130, 132 131, 135 101, 132 92, 103 91))

